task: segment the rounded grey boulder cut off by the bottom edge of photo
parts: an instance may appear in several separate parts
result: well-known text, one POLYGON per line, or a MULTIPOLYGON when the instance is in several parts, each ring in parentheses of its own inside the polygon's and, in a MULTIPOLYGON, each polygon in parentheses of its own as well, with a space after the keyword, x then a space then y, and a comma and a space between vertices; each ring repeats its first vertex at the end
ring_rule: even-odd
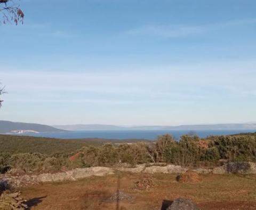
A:
POLYGON ((166 210, 200 210, 191 200, 178 198, 166 210))

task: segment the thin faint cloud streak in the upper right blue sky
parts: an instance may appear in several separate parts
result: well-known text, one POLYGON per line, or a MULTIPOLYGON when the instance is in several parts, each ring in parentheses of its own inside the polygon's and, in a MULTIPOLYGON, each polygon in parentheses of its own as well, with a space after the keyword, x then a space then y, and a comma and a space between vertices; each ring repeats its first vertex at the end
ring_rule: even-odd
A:
POLYGON ((182 26, 182 25, 146 25, 126 31, 130 35, 150 35, 166 38, 185 37, 221 30, 227 27, 255 24, 255 19, 242 19, 227 22, 218 22, 209 25, 182 26))

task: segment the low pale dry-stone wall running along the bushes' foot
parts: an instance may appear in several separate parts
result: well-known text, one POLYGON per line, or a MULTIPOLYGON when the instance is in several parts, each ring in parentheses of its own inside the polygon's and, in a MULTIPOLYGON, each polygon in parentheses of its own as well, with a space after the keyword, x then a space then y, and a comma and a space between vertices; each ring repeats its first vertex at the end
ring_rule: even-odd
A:
MULTIPOLYGON (((104 176, 114 174, 114 171, 123 171, 131 173, 163 173, 163 174, 184 174, 188 168, 181 166, 167 165, 167 166, 146 166, 146 164, 137 165, 134 168, 129 167, 91 167, 91 168, 76 168, 59 173, 44 173, 39 175, 19 175, 13 176, 10 174, 0 175, 0 183, 9 183, 14 187, 21 187, 39 182, 61 182, 67 180, 78 180, 89 176, 104 176)), ((198 168, 194 169, 198 174, 256 174, 256 164, 251 162, 227 163, 220 167, 213 169, 198 168)))

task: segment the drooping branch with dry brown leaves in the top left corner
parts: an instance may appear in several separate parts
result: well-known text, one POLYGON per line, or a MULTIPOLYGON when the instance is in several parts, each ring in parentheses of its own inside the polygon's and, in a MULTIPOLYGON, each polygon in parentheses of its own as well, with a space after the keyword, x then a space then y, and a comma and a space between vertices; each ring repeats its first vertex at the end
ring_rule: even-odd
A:
POLYGON ((23 23, 24 13, 20 9, 20 5, 15 0, 0 0, 0 15, 2 21, 0 23, 7 23, 14 21, 16 25, 18 22, 23 23))

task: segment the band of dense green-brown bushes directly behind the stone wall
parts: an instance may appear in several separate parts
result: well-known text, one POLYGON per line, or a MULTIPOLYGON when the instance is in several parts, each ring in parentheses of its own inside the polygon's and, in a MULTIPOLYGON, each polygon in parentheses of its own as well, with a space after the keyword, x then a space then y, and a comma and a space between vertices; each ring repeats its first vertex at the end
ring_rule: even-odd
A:
POLYGON ((0 169, 11 167, 28 173, 119 164, 134 166, 143 163, 213 166, 217 165, 221 159, 256 161, 256 136, 244 134, 199 139, 196 135, 183 135, 180 141, 175 141, 171 135, 166 134, 159 136, 157 141, 153 142, 86 145, 74 152, 61 152, 53 155, 2 152, 0 153, 0 169), (79 153, 77 158, 70 161, 69 157, 77 153, 79 153))

